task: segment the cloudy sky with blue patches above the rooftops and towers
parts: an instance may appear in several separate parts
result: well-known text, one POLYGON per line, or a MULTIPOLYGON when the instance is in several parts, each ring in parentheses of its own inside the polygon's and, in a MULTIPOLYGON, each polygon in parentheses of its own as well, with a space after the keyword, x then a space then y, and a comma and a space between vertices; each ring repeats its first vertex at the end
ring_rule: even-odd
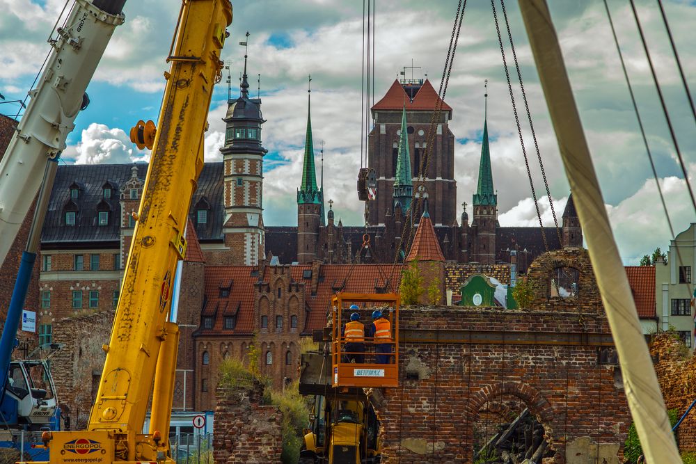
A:
MULTIPOLYGON (((6 100, 22 99, 48 52, 45 42, 64 0, 0 0, 0 93, 6 100)), ((646 150, 611 37, 601 1, 554 0, 551 13, 560 36, 566 65, 590 143, 604 198, 626 264, 670 240, 665 212, 657 195, 646 150)), ((658 80, 667 99, 688 173, 696 165, 695 121, 677 74, 667 34, 653 0, 638 1, 640 21, 647 35, 658 80)), ((690 88, 696 87, 696 47, 693 24, 696 6, 688 1, 663 1, 679 57, 690 88)), ((658 177, 670 217, 679 232, 695 221, 695 211, 667 131, 628 2, 610 0, 619 42, 638 107, 647 129, 658 177)), ((88 88, 91 104, 80 113, 70 134, 66 163, 129 163, 148 159, 129 142, 127 131, 139 119, 157 120, 164 88, 162 72, 180 2, 129 0, 126 22, 116 29, 106 54, 88 88)), ((315 147, 325 145, 325 198, 345 224, 360 224, 355 177, 361 152, 361 44, 363 2, 358 0, 257 0, 234 2, 232 34, 223 51, 230 61, 232 96, 238 94, 244 48, 239 40, 249 31, 251 88, 255 96, 258 74, 260 97, 267 122, 263 145, 264 222, 295 225, 294 192, 301 177, 301 155, 307 111, 307 75, 312 74, 312 120, 315 147)), ((548 184, 560 215, 569 193, 546 103, 516 2, 505 3, 521 65, 532 121, 548 184)), ((498 17, 502 13, 497 3, 498 17)), ((379 0, 375 13, 374 101, 383 96, 404 66, 420 66, 416 79, 425 77, 438 88, 448 50, 457 1, 379 0)), ((505 40, 505 29, 503 29, 505 40)), ((512 53, 506 42, 506 58, 512 53)), ((509 68, 514 73, 514 67, 509 68)), ((514 74, 513 74, 514 75, 514 74)), ((410 76, 409 76, 410 77, 410 76)), ((483 83, 489 80, 488 122, 493 181, 498 189, 501 225, 536 225, 536 213, 516 131, 491 6, 468 1, 445 100, 454 109, 450 129, 457 138, 454 150, 458 202, 470 203, 475 191, 480 137, 484 118, 483 83)), ((209 113, 206 161, 219 161, 227 106, 227 88, 216 89, 209 113)), ((525 147, 533 150, 519 86, 514 86, 522 111, 525 147)), ((370 97, 372 99, 372 97, 370 97)), ((13 104, 0 113, 16 111, 13 104)), ((317 160, 318 161, 318 160, 317 160)), ((318 163, 317 163, 318 166, 318 163)), ((544 191, 538 163, 532 177, 544 191)), ((548 200, 540 202, 546 224, 553 224, 548 200)), ((461 208, 461 207, 460 207, 461 208)), ((459 210, 461 213, 461 209, 459 210)), ((560 220, 560 218, 559 218, 560 220)))

